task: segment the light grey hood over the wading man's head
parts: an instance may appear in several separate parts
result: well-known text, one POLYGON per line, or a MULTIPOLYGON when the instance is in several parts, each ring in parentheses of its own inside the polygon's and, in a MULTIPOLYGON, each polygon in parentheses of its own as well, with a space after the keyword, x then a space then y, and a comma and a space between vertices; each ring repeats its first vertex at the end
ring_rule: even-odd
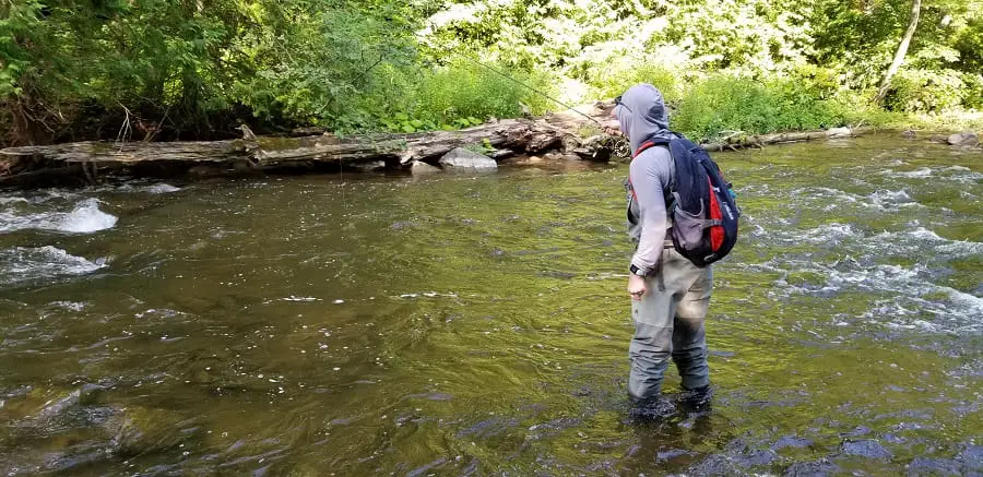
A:
POLYGON ((672 139, 668 129, 668 114, 662 93, 651 84, 637 84, 621 95, 620 104, 615 107, 615 115, 621 126, 621 132, 631 143, 632 154, 646 141, 652 139, 672 139))

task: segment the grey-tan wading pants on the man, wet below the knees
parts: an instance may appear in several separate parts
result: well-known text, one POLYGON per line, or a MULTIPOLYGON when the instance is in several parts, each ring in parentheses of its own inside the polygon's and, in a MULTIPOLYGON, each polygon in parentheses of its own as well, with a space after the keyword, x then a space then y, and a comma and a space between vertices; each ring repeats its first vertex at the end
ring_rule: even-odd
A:
POLYGON ((659 396, 670 357, 679 369, 684 389, 710 384, 703 319, 713 271, 694 265, 672 246, 663 249, 659 263, 646 277, 649 293, 631 301, 635 337, 628 347, 628 394, 639 401, 659 396))

